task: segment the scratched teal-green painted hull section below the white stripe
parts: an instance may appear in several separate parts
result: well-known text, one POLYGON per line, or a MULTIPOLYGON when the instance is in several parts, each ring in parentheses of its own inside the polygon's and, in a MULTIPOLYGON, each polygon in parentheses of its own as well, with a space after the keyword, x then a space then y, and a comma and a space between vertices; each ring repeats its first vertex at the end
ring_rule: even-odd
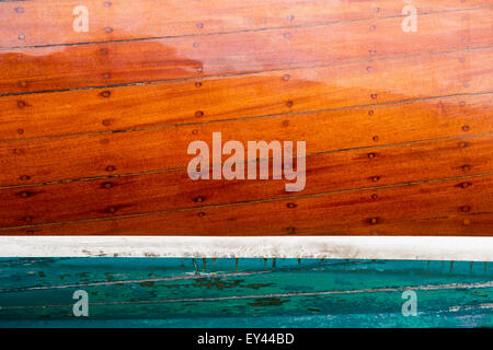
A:
POLYGON ((492 327, 491 262, 1 258, 0 326, 492 327), (89 294, 74 317, 73 292, 89 294), (417 316, 403 316, 404 290, 417 316))

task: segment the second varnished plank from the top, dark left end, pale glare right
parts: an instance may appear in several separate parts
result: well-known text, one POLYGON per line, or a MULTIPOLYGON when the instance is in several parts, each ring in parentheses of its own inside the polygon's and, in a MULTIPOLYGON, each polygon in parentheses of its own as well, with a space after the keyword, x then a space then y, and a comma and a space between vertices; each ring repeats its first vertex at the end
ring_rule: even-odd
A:
POLYGON ((289 30, 82 46, 7 49, 0 94, 380 59, 491 46, 492 10, 420 16, 404 33, 401 18, 289 30), (344 33, 344 35, 341 35, 344 33))

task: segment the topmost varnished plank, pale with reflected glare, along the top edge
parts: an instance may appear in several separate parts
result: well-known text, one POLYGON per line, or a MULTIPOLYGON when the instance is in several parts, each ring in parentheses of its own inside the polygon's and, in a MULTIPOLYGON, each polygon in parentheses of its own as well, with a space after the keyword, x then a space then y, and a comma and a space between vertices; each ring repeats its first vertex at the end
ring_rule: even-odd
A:
MULTIPOLYGON (((417 13, 491 4, 474 1, 414 1, 417 13)), ((54 45, 199 35, 289 27, 401 15, 405 3, 381 0, 58 0, 0 2, 0 47, 54 45), (89 11, 89 31, 74 32, 73 8, 89 11), (111 28, 106 30, 106 28, 111 28), (20 39, 20 35, 22 39, 20 39)))

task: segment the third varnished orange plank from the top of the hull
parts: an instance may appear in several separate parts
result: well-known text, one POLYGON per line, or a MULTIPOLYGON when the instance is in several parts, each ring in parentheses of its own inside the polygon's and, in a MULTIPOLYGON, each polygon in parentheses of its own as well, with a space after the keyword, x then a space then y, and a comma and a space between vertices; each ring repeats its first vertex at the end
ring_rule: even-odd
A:
MULTIPOLYGON (((493 49, 481 49, 228 79, 4 96, 0 97, 0 141, 491 92, 491 62, 493 49)), ((463 114, 474 122, 483 119, 481 114, 488 118, 492 113, 491 96, 443 104, 447 101, 459 105, 457 110, 462 101, 468 109, 478 110, 470 110, 469 117, 463 114)), ((429 113, 425 110, 429 103, 417 105, 429 113)), ((371 107, 381 117, 380 108, 371 107)), ((447 114, 457 115, 454 108, 447 114)), ((483 127, 488 124, 475 131, 483 127)))

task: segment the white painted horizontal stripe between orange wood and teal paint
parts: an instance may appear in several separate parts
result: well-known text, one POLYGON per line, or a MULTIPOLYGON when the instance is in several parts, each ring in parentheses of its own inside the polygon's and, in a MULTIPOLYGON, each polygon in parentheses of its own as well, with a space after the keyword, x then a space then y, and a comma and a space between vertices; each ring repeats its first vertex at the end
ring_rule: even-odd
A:
POLYGON ((0 236, 0 257, 88 256, 493 261, 493 237, 0 236))

